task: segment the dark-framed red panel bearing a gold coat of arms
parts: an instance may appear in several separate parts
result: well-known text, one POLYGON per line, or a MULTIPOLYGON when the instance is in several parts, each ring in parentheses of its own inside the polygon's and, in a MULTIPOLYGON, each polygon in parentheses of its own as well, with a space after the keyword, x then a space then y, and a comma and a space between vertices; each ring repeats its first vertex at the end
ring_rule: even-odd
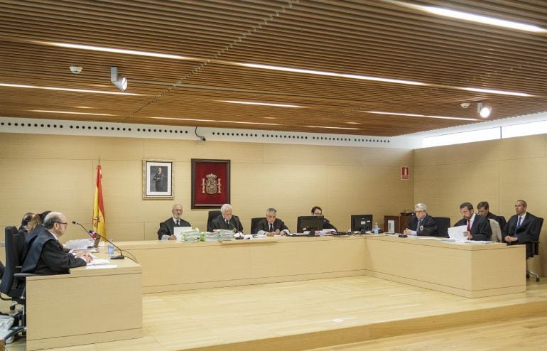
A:
POLYGON ((230 161, 192 158, 192 208, 230 202, 230 161))

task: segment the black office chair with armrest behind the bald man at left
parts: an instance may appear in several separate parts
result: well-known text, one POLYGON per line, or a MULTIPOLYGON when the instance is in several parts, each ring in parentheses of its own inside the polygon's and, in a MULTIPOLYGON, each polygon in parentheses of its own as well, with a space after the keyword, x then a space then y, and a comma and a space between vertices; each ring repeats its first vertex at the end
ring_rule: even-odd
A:
POLYGON ((2 280, 0 281, 0 293, 8 296, 2 300, 11 300, 13 305, 10 309, 15 310, 16 305, 21 305, 20 311, 12 315, 13 327, 11 332, 4 335, 4 341, 11 338, 13 335, 26 333, 26 277, 36 276, 36 274, 21 273, 21 264, 23 249, 25 247, 24 234, 18 234, 16 227, 6 227, 6 269, 2 280))

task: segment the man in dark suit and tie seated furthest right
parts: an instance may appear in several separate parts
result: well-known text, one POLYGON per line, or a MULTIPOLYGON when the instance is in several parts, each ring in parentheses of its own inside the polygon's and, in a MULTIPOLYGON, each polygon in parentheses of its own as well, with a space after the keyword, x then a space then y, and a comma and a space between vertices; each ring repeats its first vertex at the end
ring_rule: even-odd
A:
MULTIPOLYGON (((507 222, 502 234, 504 242, 507 242, 508 245, 526 244, 538 239, 541 230, 540 222, 538 217, 526 212, 527 208, 526 201, 516 200, 516 215, 509 218, 509 222, 507 222)), ((526 245, 526 257, 533 256, 531 245, 526 245)))

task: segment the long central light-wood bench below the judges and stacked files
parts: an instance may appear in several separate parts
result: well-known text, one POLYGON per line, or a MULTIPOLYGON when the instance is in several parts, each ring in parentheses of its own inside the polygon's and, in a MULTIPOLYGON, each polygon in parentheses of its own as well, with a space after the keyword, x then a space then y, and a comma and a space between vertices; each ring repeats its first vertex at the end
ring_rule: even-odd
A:
POLYGON ((123 242, 143 266, 143 292, 365 274, 363 237, 232 242, 123 242))

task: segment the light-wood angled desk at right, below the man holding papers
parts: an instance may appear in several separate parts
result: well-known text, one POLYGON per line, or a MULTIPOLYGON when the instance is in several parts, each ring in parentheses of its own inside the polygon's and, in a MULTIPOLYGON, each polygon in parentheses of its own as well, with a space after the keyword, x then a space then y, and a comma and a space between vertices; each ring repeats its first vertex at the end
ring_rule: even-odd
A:
POLYGON ((526 291, 524 246, 370 237, 370 275, 466 297, 526 291))

